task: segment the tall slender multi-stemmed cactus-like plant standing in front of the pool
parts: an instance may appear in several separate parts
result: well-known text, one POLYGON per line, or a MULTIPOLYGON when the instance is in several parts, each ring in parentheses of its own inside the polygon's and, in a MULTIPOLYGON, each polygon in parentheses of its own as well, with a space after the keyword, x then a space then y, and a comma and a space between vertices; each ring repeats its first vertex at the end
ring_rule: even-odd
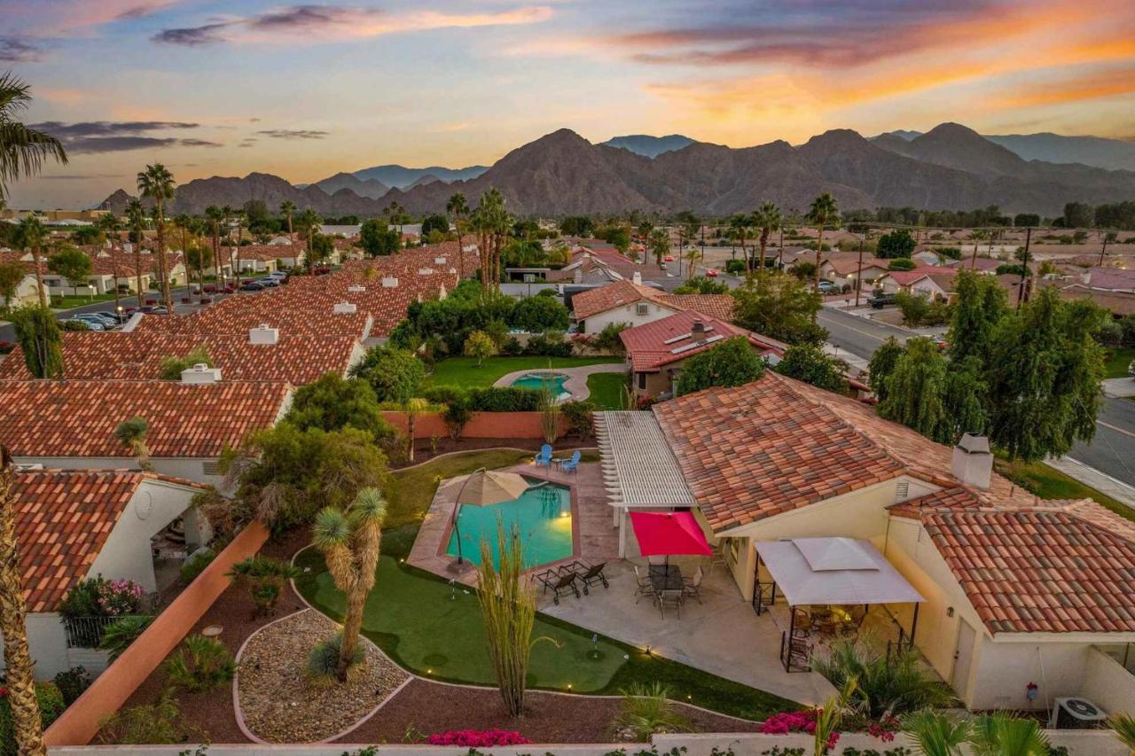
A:
POLYGON ((489 660, 497 687, 512 716, 524 711, 528 660, 531 655, 532 627, 536 623, 536 588, 524 578, 524 553, 520 529, 505 530, 497 523, 496 562, 493 544, 481 539, 477 599, 485 620, 489 660))

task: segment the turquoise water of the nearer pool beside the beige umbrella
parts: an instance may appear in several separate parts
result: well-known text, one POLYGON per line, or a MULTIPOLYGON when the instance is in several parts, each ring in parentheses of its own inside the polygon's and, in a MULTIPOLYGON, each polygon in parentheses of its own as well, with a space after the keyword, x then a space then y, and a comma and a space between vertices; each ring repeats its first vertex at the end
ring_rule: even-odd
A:
POLYGON ((449 534, 446 554, 457 555, 457 532, 461 554, 473 564, 481 563, 481 541, 496 548, 497 518, 506 530, 515 524, 523 544, 524 566, 533 568, 572 555, 571 489, 555 484, 536 482, 520 498, 488 506, 463 505, 457 513, 457 528, 449 534))

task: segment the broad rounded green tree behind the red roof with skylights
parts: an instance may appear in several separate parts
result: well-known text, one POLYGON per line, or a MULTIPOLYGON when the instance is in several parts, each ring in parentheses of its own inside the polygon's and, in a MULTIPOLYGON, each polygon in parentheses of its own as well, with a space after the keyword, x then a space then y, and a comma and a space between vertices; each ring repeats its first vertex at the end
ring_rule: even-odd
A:
POLYGON ((794 276, 759 270, 732 294, 733 322, 742 328, 789 344, 827 338, 827 331, 815 321, 823 297, 794 276))

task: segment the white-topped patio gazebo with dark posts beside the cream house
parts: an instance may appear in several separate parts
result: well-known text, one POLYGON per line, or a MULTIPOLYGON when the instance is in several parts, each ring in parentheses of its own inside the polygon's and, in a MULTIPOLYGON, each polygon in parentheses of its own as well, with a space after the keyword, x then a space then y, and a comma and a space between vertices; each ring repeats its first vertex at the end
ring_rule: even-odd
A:
MULTIPOLYGON (((907 633, 899 627, 899 644, 914 646, 918 627, 918 605, 926 600, 907 582, 871 541, 856 538, 793 538, 758 541, 757 585, 754 606, 757 614, 776 603, 780 590, 790 607, 789 630, 782 642, 784 669, 792 671, 805 655, 805 637, 797 632, 796 606, 868 606, 872 604, 914 604, 914 619, 907 633), (772 578, 762 581, 760 566, 772 578)), ((810 647, 808 647, 810 648, 810 647)), ((797 669, 808 669, 802 664, 797 669)))

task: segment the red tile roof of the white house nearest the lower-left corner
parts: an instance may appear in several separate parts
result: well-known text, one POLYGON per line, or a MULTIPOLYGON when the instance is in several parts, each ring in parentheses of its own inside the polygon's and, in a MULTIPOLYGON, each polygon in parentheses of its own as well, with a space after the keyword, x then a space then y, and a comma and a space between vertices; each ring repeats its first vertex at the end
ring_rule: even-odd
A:
POLYGON ((12 478, 16 537, 28 612, 53 612, 87 576, 138 486, 187 480, 127 470, 36 470, 12 478))

